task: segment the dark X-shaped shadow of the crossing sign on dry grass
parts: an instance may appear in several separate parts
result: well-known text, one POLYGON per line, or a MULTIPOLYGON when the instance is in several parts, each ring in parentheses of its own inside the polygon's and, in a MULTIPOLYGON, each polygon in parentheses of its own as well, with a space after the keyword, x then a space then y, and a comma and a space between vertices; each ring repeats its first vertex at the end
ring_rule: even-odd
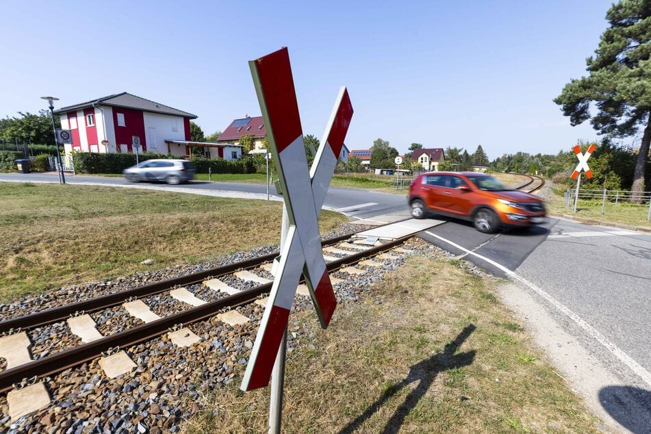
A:
POLYGON ((348 425, 344 426, 344 428, 340 431, 340 434, 353 433, 361 426, 361 424, 366 422, 366 420, 373 416, 374 413, 379 411, 379 409, 385 405, 387 400, 400 392, 403 387, 413 383, 414 381, 418 381, 418 386, 409 392, 409 395, 407 395, 403 403, 400 404, 396 411, 394 411, 393 416, 387 421, 384 429, 381 431, 382 433, 387 434, 397 433, 400 430, 400 426, 402 426, 405 422, 405 418, 409 414, 409 411, 416 407, 420 398, 426 394, 437 374, 448 369, 468 366, 472 363, 472 361, 474 361, 474 356, 476 353, 474 350, 468 351, 467 353, 455 354, 461 344, 463 344, 463 342, 468 339, 468 336, 470 336, 470 333, 472 333, 474 329, 476 329, 474 324, 469 324, 463 328, 455 340, 446 344, 442 353, 436 353, 432 357, 424 359, 416 363, 416 365, 411 366, 409 369, 409 374, 407 374, 407 377, 405 379, 400 381, 400 383, 393 385, 389 388, 389 390, 384 392, 384 394, 378 400, 368 406, 366 411, 355 418, 355 420, 348 423, 348 425))

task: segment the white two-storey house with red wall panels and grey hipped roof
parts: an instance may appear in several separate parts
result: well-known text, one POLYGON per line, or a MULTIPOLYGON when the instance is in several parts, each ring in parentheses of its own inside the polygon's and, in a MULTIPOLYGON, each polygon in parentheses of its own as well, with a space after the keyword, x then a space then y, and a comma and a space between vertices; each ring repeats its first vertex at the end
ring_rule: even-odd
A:
POLYGON ((66 153, 133 152, 133 136, 138 152, 173 155, 190 154, 192 113, 122 92, 55 110, 62 129, 71 130, 73 143, 66 153))

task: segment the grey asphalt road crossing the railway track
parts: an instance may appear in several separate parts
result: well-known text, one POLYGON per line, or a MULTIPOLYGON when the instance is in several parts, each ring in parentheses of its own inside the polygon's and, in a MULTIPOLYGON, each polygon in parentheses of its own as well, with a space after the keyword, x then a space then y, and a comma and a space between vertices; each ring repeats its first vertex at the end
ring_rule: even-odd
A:
MULTIPOLYGON (((0 174, 2 180, 58 181, 55 174, 38 173, 0 174)), ((122 178, 68 175, 66 181, 134 186, 122 178)), ((260 199, 266 198, 267 192, 266 186, 201 181, 183 186, 136 186, 235 191, 260 199)), ((270 191, 273 199, 281 199, 273 187, 270 191)), ((352 219, 409 215, 401 194, 346 188, 331 188, 324 207, 352 219)), ((533 229, 486 235, 468 222, 444 220, 444 225, 421 233, 422 238, 530 292, 536 298, 535 308, 545 309, 554 327, 571 335, 617 379, 614 385, 587 394, 593 393, 596 402, 621 426, 635 433, 651 433, 651 235, 557 218, 533 229)))

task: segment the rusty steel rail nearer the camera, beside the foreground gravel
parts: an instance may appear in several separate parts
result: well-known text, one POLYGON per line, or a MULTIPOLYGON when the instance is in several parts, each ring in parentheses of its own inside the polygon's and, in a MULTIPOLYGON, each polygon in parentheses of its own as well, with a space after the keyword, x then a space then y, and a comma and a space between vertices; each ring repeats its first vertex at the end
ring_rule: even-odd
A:
MULTIPOLYGON (((327 263, 328 270, 337 270, 344 264, 361 261, 370 255, 377 255, 383 251, 390 250, 395 246, 403 244, 403 242, 407 241, 409 238, 411 238, 411 235, 387 242, 381 246, 371 247, 366 251, 353 253, 338 259, 337 261, 329 262, 327 263)), ((218 314, 218 311, 225 307, 232 308, 246 303, 251 303, 252 301, 255 301, 259 295, 268 292, 271 289, 272 284, 273 283, 265 283, 264 285, 259 285, 250 290, 245 290, 238 294, 227 296, 199 307, 193 307, 159 320, 147 322, 138 327, 132 327, 131 329, 120 331, 119 333, 103 337, 99 340, 89 342, 88 344, 69 348, 68 350, 63 350, 59 353, 30 361, 21 366, 4 370, 0 372, 0 393, 11 390, 14 384, 20 383, 23 379, 33 378, 34 376, 41 379, 96 359, 103 351, 106 351, 109 348, 114 348, 116 346, 120 348, 128 348, 158 337, 166 333, 170 327, 177 324, 193 324, 194 322, 205 320, 218 314)))

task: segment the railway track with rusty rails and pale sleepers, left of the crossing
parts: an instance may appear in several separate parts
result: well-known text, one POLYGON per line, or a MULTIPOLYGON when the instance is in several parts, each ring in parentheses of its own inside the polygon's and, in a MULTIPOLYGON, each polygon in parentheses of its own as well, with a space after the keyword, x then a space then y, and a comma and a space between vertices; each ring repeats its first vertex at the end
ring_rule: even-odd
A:
MULTIPOLYGON (((386 258, 396 259, 396 256, 387 255, 387 251, 392 251, 409 238, 411 235, 392 242, 384 242, 379 246, 367 246, 361 244, 363 240, 355 238, 354 234, 348 234, 326 240, 322 242, 322 246, 331 274, 347 272, 354 276, 355 270, 359 274, 364 272, 364 265, 360 270, 354 268, 354 264, 366 264, 367 268, 382 264, 381 259, 370 260, 368 259, 370 257, 381 258, 385 255, 386 258)), ((5 353, 0 354, 0 357, 5 357, 8 362, 11 362, 8 363, 7 369, 0 372, 0 392, 15 390, 17 384, 25 385, 26 379, 31 379, 31 383, 34 383, 38 379, 60 374, 84 363, 106 359, 110 357, 107 351, 116 353, 115 348, 129 348, 149 342, 170 333, 170 329, 193 335, 194 333, 187 328, 188 324, 206 321, 218 315, 225 318, 229 311, 234 313, 236 307, 263 303, 259 299, 269 292, 272 286, 269 270, 276 256, 277 253, 272 253, 176 279, 142 285, 132 290, 91 298, 73 305, 3 320, 0 322, 0 332, 4 333, 2 339, 13 338, 22 341, 24 346, 22 350, 20 345, 10 349, 14 353, 12 354, 6 352, 8 346, 5 345, 5 353), (212 299, 199 298, 200 294, 212 294, 212 299), (159 314, 165 310, 165 307, 159 307, 157 309, 159 314, 156 314, 153 307, 144 303, 152 297, 171 298, 183 304, 185 308, 162 316, 159 314), (128 312, 129 315, 136 316, 141 324, 110 335, 102 335, 97 330, 97 325, 93 325, 94 321, 90 313, 107 309, 119 309, 122 315, 128 312), (47 327, 54 327, 50 333, 54 337, 59 331, 67 328, 81 340, 81 344, 72 348, 56 348, 35 360, 25 361, 23 357, 24 363, 16 362, 20 360, 19 357, 14 359, 16 353, 22 352, 23 356, 25 351, 29 353, 30 342, 27 332, 47 327), (16 348, 19 351, 16 351, 16 348)), ((335 290, 336 288, 335 284, 335 290)), ((301 288, 298 292, 301 294, 301 288)), ((235 314, 230 316, 237 318, 235 314)), ((248 318, 242 317, 244 316, 240 314, 240 318, 231 320, 230 324, 238 324, 238 320, 242 323, 249 321, 248 318)), ((223 320, 229 322, 227 319, 223 320)), ((125 322, 127 322, 126 318, 125 322)), ((1 344, 0 348, 2 348, 1 344)))

